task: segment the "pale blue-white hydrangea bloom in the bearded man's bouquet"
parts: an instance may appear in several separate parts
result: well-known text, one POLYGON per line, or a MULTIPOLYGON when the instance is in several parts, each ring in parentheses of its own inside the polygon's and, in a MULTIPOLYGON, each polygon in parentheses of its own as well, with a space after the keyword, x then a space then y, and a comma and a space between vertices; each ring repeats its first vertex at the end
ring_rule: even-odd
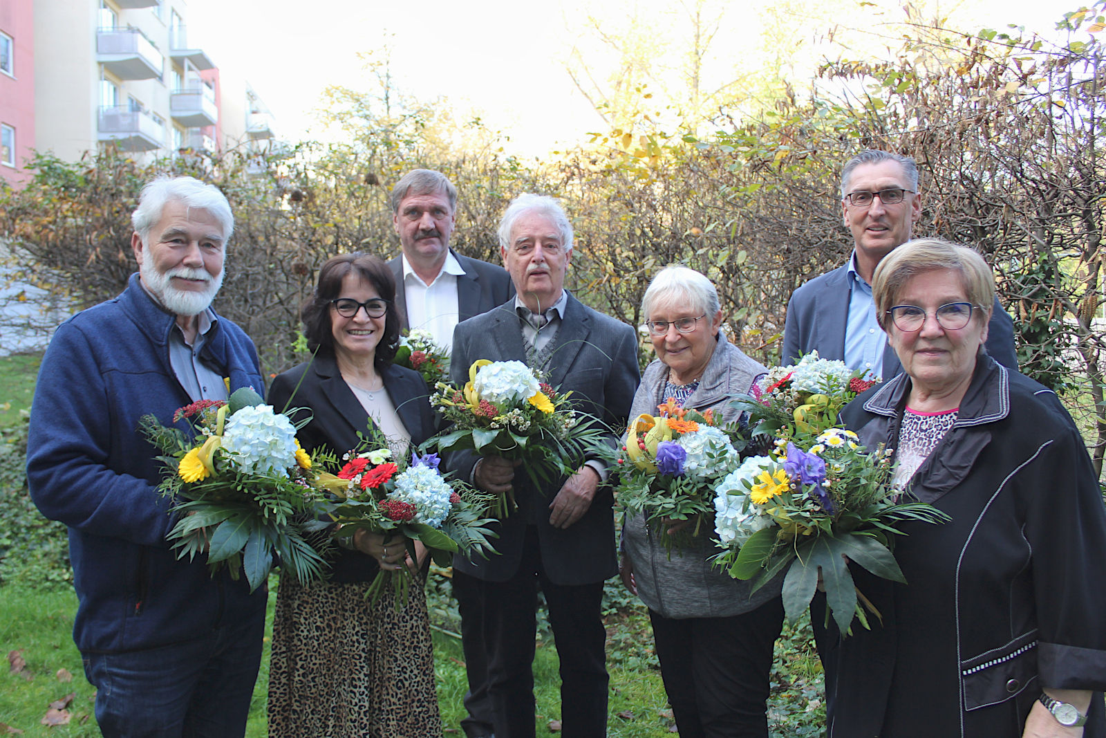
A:
POLYGON ((247 474, 288 476, 295 461, 295 426, 271 405, 243 407, 227 420, 222 448, 247 474))

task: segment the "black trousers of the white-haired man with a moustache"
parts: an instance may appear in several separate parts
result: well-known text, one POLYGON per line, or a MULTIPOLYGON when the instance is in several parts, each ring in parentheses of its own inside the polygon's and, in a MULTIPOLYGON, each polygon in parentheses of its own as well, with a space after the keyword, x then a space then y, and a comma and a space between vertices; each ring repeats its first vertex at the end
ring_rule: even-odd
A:
POLYGON ((480 581, 488 694, 495 738, 533 738, 538 585, 550 611, 561 659, 561 735, 604 738, 607 730, 603 582, 554 584, 545 576, 536 526, 528 526, 522 561, 505 582, 480 581))

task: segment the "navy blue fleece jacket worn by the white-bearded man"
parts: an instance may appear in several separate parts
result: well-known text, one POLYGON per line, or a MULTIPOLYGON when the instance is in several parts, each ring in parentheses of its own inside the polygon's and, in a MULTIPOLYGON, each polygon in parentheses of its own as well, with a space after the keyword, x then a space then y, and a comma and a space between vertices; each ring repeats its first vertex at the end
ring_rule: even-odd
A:
MULTIPOLYGON (((171 501, 155 490, 157 450, 138 420, 168 425, 191 402, 169 364, 174 320, 132 274, 123 294, 58 328, 39 370, 27 477, 42 513, 69 526, 82 652, 153 648, 264 617, 264 588, 250 594, 226 569, 212 578, 202 557, 180 561, 165 540, 171 501)), ((218 320, 201 356, 231 392, 263 393, 253 342, 230 321, 218 320)))

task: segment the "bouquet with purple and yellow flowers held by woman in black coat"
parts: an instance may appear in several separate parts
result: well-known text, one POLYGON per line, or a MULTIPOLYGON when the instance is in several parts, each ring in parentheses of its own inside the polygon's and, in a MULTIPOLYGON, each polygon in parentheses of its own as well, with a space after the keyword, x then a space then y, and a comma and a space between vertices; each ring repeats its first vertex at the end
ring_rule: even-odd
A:
POLYGON ((745 459, 717 489, 714 531, 728 550, 716 560, 731 576, 757 576, 757 591, 786 569, 783 606, 794 622, 814 596, 821 569, 830 613, 842 633, 854 615, 881 616, 856 589, 845 557, 906 583, 891 550, 895 523, 949 518, 925 502, 900 502, 883 445, 866 453, 852 430, 828 428, 803 450, 787 436, 776 451, 745 459), (859 599, 859 601, 858 601, 859 599), (863 602, 864 607, 860 606, 863 602))

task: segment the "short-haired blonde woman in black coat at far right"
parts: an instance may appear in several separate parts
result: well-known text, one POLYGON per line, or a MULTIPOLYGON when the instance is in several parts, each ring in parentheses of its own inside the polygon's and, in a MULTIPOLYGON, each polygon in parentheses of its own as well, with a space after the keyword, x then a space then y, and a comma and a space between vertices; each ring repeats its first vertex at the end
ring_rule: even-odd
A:
POLYGON ((983 352, 994 282, 974 251, 910 241, 873 290, 904 374, 842 417, 950 521, 901 523, 907 584, 851 567, 883 617, 828 654, 830 736, 1103 736, 1106 512, 1083 438, 983 352))

